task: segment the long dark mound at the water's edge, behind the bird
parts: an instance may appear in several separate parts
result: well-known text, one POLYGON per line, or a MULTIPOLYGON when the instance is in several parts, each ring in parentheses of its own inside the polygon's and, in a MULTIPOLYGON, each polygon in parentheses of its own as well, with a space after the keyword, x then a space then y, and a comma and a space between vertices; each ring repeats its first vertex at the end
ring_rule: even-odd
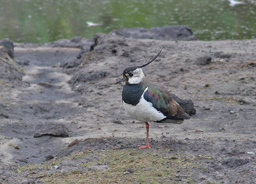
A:
POLYGON ((113 30, 110 34, 123 35, 125 38, 155 39, 155 40, 196 40, 193 31, 188 26, 163 26, 146 29, 143 27, 123 28, 113 30))

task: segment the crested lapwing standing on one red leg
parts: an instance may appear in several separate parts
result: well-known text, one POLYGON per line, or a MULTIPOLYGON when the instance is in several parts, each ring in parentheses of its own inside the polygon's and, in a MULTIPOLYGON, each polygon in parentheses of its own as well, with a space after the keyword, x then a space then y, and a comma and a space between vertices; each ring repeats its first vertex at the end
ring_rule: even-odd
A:
POLYGON ((126 68, 123 78, 116 84, 125 82, 122 91, 122 102, 127 114, 146 124, 146 145, 139 148, 151 149, 148 141, 148 122, 181 124, 190 116, 174 101, 169 91, 161 84, 146 79, 142 68, 152 63, 161 53, 162 49, 148 63, 141 66, 126 68))

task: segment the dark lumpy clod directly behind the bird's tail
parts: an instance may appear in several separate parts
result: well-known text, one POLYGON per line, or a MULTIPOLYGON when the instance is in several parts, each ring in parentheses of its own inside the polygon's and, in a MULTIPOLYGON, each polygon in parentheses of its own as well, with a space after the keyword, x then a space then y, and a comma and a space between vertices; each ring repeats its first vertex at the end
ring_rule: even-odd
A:
POLYGON ((171 94, 172 99, 174 99, 183 110, 189 115, 195 115, 196 109, 194 107, 194 103, 191 99, 180 99, 175 94, 171 94))

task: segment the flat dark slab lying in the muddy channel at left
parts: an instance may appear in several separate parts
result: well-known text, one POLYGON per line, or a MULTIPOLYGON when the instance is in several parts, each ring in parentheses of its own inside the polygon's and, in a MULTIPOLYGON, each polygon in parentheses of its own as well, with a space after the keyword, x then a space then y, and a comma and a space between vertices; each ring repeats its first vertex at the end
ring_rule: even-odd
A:
POLYGON ((36 125, 34 137, 43 135, 68 137, 68 128, 63 123, 46 123, 36 125))

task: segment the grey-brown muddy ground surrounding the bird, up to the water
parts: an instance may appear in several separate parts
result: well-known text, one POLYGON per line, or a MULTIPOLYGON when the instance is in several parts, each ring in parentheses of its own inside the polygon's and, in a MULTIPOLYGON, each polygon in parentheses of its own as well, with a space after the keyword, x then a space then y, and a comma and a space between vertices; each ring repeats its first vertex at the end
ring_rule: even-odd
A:
MULTIPOLYGON (((151 181, 105 183, 255 183, 256 39, 161 41, 97 34, 91 39, 14 45, 14 60, 6 54, 0 58, 0 183, 54 183, 39 177, 43 169, 20 172, 20 166, 86 150, 92 151, 93 162, 100 151, 131 149, 135 155, 157 153, 152 164, 177 154, 200 163, 189 167, 189 182, 181 174, 177 180, 168 174, 160 180, 161 170, 156 170, 158 177, 151 181), (145 124, 125 113, 124 84, 115 83, 125 68, 148 62, 159 49, 158 59, 144 68, 146 77, 181 99, 192 99, 196 114, 180 125, 149 123, 152 149, 140 150, 145 124), (34 137, 36 125, 45 123, 63 123, 69 137, 34 137)), ((83 157, 87 162, 90 158, 83 157)), ((58 171, 47 172, 87 172, 80 161, 67 159, 58 171)), ((108 170, 110 164, 104 163, 108 170)), ((100 166, 88 172, 100 172, 100 166)), ((135 177, 139 168, 143 165, 134 166, 125 177, 135 177)), ((87 182, 80 178, 74 183, 87 182)))

